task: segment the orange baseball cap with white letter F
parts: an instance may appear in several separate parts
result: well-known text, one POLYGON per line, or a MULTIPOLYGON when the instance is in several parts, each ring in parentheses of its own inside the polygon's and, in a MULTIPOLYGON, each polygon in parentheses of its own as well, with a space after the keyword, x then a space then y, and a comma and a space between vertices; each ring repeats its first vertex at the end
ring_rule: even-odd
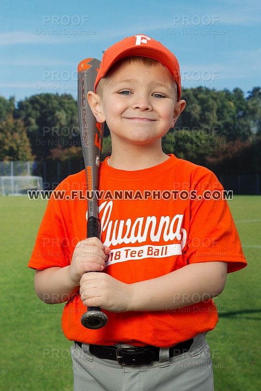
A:
POLYGON ((143 34, 127 37, 124 40, 110 46, 109 49, 105 51, 94 85, 95 92, 99 81, 106 75, 112 65, 124 58, 136 56, 153 58, 169 69, 177 84, 177 100, 179 101, 181 96, 181 82, 179 65, 176 57, 160 42, 143 34))

